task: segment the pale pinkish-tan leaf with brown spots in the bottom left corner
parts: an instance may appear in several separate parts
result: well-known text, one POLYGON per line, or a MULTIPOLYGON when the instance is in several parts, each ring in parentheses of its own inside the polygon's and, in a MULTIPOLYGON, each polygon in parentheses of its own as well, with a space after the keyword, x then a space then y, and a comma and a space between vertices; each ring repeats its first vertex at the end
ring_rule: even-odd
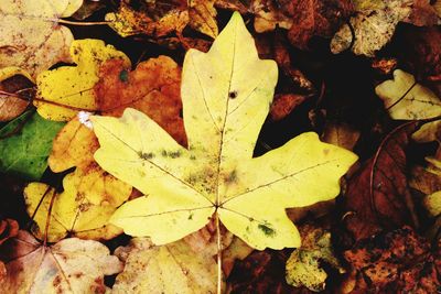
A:
POLYGON ((2 293, 105 293, 104 275, 122 270, 101 243, 68 238, 51 247, 19 231, 1 247, 7 276, 2 293))

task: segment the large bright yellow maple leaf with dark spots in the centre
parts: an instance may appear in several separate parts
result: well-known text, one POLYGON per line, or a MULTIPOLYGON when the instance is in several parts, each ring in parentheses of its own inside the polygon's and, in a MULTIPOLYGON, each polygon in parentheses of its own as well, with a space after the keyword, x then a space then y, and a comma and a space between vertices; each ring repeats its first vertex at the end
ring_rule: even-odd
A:
POLYGON ((163 244, 202 228, 216 213, 254 248, 299 247, 284 209, 335 197, 356 155, 304 133, 252 159, 276 81, 275 62, 258 58, 234 13, 207 54, 190 50, 185 56, 181 95, 189 149, 137 110, 126 109, 120 119, 94 116, 100 144, 95 160, 146 195, 122 205, 111 222, 163 244))

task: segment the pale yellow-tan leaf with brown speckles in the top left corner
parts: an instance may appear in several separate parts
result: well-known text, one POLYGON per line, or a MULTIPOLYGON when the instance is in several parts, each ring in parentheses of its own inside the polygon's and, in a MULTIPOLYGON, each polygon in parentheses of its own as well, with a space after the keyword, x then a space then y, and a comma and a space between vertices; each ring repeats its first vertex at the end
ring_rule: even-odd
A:
POLYGON ((18 66, 33 78, 58 62, 71 62, 69 29, 57 23, 83 1, 2 0, 0 3, 0 67, 18 66))

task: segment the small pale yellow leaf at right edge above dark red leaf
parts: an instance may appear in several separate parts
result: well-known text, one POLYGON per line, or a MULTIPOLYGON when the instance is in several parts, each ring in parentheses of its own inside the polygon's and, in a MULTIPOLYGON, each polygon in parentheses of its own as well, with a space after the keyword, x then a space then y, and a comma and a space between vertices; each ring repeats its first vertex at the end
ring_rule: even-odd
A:
POLYGON ((441 101, 430 89, 418 84, 413 76, 397 69, 394 80, 375 88, 392 119, 429 119, 441 116, 441 101))

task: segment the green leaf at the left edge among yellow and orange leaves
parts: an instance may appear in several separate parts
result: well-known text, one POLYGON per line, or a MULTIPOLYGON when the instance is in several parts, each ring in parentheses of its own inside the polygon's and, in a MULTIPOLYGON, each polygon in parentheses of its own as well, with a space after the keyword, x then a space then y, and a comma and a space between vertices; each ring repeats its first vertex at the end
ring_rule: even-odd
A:
POLYGON ((24 112, 0 129, 0 171, 39 181, 47 167, 52 140, 64 123, 24 112))

